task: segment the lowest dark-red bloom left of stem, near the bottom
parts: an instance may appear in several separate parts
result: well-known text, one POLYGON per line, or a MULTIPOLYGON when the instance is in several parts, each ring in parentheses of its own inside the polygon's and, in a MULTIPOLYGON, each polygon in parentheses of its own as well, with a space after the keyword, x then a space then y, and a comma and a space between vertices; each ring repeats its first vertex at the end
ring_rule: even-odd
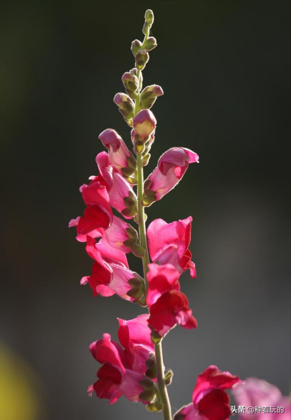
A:
POLYGON ((140 382, 146 378, 142 373, 131 369, 121 346, 111 341, 110 334, 91 343, 89 347, 93 358, 103 366, 98 370, 98 380, 88 387, 91 396, 95 391, 99 398, 106 398, 114 404, 122 395, 132 402, 148 404, 150 400, 139 396, 144 388, 140 382))

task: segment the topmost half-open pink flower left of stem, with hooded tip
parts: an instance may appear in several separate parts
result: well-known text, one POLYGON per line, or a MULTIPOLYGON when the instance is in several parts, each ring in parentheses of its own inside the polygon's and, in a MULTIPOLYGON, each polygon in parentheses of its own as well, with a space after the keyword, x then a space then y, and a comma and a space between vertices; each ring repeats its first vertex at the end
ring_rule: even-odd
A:
POLYGON ((128 167, 126 158, 132 157, 132 154, 124 141, 120 135, 111 128, 104 130, 99 138, 103 145, 108 148, 110 164, 117 169, 119 173, 123 174, 121 169, 128 167))

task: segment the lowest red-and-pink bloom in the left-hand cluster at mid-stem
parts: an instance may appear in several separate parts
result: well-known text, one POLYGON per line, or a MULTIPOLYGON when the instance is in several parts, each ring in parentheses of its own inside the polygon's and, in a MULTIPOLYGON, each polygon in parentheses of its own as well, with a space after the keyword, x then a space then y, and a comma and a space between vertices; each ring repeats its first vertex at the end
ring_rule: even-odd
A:
POLYGON ((89 283, 93 296, 117 294, 122 299, 135 301, 135 296, 127 294, 132 288, 130 281, 136 279, 142 282, 142 279, 137 273, 129 270, 125 253, 111 247, 105 239, 96 244, 96 241, 89 236, 86 251, 94 263, 91 275, 83 277, 81 285, 89 283))

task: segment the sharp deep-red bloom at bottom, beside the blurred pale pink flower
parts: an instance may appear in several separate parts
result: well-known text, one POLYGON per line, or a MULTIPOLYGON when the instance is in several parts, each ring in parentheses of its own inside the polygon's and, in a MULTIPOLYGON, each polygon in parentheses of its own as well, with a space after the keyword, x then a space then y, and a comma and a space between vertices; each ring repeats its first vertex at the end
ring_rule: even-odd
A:
POLYGON ((174 420, 226 420, 231 410, 230 398, 225 392, 240 383, 238 376, 209 366, 197 378, 192 403, 174 415, 174 420))

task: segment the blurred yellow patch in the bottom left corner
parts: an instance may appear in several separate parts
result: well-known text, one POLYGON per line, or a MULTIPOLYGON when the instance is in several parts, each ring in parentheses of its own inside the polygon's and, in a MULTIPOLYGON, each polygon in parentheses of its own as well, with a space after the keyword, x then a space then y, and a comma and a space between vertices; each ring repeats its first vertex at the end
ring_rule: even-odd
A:
POLYGON ((0 344, 0 420, 39 420, 39 379, 18 355, 0 344))

